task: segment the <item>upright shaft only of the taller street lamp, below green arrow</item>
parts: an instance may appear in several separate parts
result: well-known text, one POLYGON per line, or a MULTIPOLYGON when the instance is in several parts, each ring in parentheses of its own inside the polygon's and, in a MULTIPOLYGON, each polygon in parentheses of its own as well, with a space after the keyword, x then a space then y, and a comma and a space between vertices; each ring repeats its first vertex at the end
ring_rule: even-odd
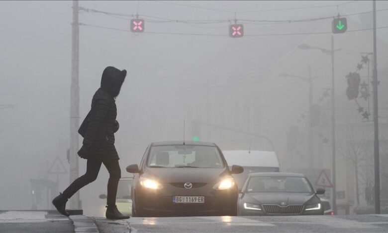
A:
POLYGON ((335 177, 335 89, 334 89, 334 36, 331 35, 331 182, 333 184, 331 193, 331 204, 333 211, 337 214, 337 191, 335 177))

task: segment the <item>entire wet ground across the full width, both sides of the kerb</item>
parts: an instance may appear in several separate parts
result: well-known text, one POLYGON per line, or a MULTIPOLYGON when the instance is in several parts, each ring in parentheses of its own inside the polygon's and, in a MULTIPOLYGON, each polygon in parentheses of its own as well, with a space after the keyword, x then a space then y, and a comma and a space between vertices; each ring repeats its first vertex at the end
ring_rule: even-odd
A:
POLYGON ((105 218, 0 211, 0 233, 388 233, 388 215, 105 218))

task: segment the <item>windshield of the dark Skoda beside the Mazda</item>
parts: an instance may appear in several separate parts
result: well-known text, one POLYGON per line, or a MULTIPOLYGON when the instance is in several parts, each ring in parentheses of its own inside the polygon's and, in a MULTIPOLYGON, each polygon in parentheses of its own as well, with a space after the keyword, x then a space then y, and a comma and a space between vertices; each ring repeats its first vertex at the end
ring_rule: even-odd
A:
POLYGON ((252 176, 246 190, 247 192, 312 192, 306 178, 295 176, 252 176))

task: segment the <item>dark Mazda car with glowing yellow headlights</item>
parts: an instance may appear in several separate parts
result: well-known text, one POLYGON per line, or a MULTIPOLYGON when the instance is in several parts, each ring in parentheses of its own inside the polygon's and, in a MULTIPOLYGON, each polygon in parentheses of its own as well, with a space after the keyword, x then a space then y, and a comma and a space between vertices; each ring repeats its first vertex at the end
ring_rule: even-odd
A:
POLYGON ((214 143, 154 142, 134 173, 132 216, 236 215, 238 190, 229 167, 214 143))

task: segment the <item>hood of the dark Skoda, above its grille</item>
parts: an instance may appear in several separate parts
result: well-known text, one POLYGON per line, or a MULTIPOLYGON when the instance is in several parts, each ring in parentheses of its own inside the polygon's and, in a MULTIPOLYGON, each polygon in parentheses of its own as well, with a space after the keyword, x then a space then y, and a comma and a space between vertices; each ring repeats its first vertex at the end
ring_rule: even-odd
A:
MULTIPOLYGON (((285 205, 303 205, 310 199, 314 199, 316 196, 314 193, 248 193, 247 199, 254 199, 259 204, 281 205, 285 202, 285 205)), ((317 197, 316 197, 317 198, 317 197)), ((249 201, 249 200, 247 200, 249 201)), ((317 198, 317 201, 319 199, 317 198)))

